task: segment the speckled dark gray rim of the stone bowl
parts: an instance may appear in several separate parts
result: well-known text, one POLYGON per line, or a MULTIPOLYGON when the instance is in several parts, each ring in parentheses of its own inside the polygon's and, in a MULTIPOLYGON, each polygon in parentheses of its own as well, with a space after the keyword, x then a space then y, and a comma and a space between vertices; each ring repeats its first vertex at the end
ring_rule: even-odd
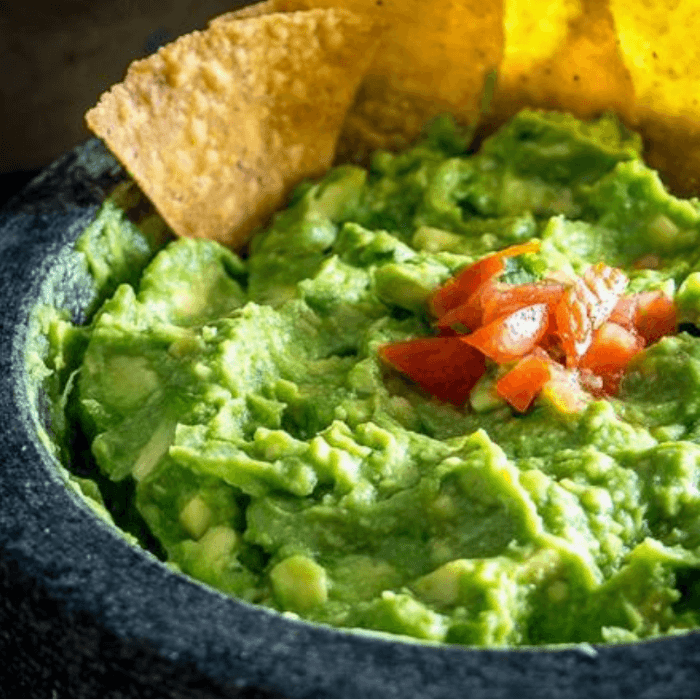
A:
POLYGON ((101 143, 91 139, 0 211, 0 553, 23 575, 40 581, 61 609, 87 615, 98 629, 126 643, 146 645, 174 667, 195 667, 229 694, 236 689, 294 697, 696 693, 697 633, 614 646, 483 650, 341 631, 227 598, 173 573, 97 518, 66 487, 55 458, 37 437, 24 349, 28 313, 37 301, 84 303, 62 266, 104 196, 99 183, 123 177, 101 143), (61 186, 67 174, 72 191, 61 186), (78 189, 86 185, 79 197, 76 182, 78 189))

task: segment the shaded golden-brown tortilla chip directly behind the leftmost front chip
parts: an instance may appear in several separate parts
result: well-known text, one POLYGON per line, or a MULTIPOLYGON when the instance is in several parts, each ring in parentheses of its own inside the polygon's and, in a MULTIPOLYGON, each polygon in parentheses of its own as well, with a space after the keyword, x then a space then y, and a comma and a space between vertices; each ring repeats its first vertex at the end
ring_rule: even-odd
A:
POLYGON ((484 81, 502 57, 500 2, 268 0, 228 16, 338 5, 386 27, 348 113, 340 160, 363 160, 376 148, 404 148, 441 113, 467 124, 478 120, 484 81))

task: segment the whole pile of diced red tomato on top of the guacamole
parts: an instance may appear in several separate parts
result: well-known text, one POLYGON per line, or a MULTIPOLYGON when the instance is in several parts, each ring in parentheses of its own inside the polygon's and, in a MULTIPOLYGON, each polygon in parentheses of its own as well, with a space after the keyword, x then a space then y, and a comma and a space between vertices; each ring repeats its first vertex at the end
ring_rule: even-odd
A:
POLYGON ((430 299, 440 335, 392 343, 380 356, 426 391, 463 405, 486 359, 511 365, 495 392, 516 411, 543 400, 562 413, 615 394, 630 360, 676 330, 663 292, 624 294, 627 276, 603 263, 581 277, 553 272, 542 282, 499 281, 507 257, 539 242, 511 246, 462 270, 430 299))

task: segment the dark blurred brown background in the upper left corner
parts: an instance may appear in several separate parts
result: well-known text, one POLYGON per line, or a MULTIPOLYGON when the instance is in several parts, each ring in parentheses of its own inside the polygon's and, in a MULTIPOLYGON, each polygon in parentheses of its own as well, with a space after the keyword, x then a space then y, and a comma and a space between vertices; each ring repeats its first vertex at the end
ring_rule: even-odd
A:
POLYGON ((0 2, 0 206, 90 136, 83 114, 131 61, 250 1, 0 2))

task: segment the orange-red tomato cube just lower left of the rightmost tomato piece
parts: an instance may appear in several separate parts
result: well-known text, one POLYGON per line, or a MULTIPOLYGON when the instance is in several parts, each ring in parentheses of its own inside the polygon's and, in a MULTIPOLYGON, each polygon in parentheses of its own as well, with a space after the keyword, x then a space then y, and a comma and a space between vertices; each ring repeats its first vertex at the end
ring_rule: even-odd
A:
POLYGON ((643 348, 644 339, 637 333, 607 321, 594 332, 580 366, 602 378, 606 394, 615 394, 629 361, 643 348))

